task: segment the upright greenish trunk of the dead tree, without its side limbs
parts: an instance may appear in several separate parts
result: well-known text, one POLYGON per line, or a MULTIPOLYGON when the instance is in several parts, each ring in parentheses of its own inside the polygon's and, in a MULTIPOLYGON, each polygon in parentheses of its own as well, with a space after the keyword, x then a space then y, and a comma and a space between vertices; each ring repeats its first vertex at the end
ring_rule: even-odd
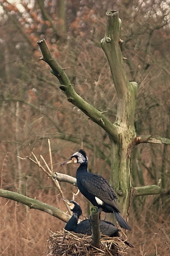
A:
POLYGON ((119 142, 110 138, 111 144, 111 177, 110 183, 119 197, 119 207, 123 216, 128 215, 130 198, 130 160, 133 150, 133 140, 136 137, 134 127, 135 97, 137 83, 129 82, 124 70, 120 39, 121 20, 118 11, 106 13, 105 36, 101 40, 112 72, 117 91, 118 106, 115 126, 119 134, 119 142))

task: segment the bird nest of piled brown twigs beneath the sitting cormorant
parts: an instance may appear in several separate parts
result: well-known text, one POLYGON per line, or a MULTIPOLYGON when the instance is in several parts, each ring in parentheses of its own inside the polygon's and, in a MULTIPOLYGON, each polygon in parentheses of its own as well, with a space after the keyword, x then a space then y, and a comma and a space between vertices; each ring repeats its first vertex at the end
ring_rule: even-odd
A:
POLYGON ((91 245, 91 236, 76 234, 66 230, 56 233, 49 231, 48 252, 50 256, 124 256, 128 253, 127 247, 121 237, 108 237, 101 235, 101 246, 95 248, 91 245))

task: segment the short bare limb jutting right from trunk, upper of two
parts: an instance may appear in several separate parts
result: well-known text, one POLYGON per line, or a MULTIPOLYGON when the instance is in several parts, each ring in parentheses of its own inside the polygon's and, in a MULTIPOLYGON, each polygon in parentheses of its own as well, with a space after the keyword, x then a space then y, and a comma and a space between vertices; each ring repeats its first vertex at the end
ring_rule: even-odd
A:
POLYGON ((140 135, 137 136, 136 144, 139 143, 156 143, 156 144, 170 144, 170 139, 161 136, 140 135))

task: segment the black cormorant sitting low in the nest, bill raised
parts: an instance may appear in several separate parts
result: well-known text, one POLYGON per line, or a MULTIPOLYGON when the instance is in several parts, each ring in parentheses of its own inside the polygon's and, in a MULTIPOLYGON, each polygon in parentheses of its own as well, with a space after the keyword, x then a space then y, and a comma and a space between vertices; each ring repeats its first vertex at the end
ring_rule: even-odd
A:
MULTIPOLYGON (((78 219, 82 214, 80 205, 73 200, 67 200, 65 198, 62 199, 68 204, 69 208, 73 212, 73 215, 69 219, 64 229, 68 231, 73 231, 77 234, 87 234, 88 236, 91 236, 92 231, 90 219, 85 219, 84 221, 78 223, 78 219)), ((119 229, 109 221, 99 220, 99 227, 103 235, 110 237, 120 237, 119 229)), ((124 243, 126 243, 126 245, 130 247, 133 247, 133 245, 131 245, 128 241, 124 241, 124 243)))

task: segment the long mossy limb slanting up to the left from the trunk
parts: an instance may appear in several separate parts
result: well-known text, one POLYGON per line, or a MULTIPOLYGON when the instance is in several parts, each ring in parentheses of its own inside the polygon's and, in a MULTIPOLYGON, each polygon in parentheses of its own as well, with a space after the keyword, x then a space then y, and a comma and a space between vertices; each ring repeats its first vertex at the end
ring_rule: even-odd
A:
POLYGON ((112 122, 110 122, 101 111, 93 108, 93 106, 91 106, 75 92, 68 79, 68 76, 62 67, 60 67, 57 61, 53 58, 45 39, 39 40, 37 43, 43 55, 40 60, 44 60, 51 67, 52 73, 58 78, 60 82, 59 88, 64 91, 68 101, 77 106, 82 112, 90 117, 93 122, 99 124, 99 126, 101 126, 108 133, 108 135, 110 135, 110 137, 112 137, 112 139, 118 143, 119 135, 117 127, 112 124, 112 122))

